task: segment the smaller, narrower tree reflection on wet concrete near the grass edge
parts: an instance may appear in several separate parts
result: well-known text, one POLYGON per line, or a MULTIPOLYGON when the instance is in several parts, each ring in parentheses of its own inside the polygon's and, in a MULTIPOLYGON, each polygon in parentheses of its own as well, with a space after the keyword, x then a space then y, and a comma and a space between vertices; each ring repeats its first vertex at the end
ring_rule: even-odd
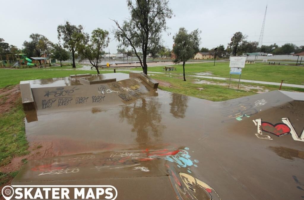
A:
POLYGON ((172 102, 169 104, 171 106, 170 113, 175 118, 184 118, 187 110, 188 97, 182 94, 172 93, 172 102))

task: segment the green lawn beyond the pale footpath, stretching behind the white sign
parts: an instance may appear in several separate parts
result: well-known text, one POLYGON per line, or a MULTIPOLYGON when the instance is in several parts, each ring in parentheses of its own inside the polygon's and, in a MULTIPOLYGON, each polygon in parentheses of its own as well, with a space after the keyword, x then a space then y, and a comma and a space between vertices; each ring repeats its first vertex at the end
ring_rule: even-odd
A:
MULTIPOLYGON (((176 71, 168 73, 183 73, 182 65, 172 65, 176 67, 176 71)), ((132 70, 141 71, 140 68, 132 70)), ((163 66, 148 67, 148 72, 165 72, 163 66)), ((216 66, 213 63, 191 63, 185 65, 186 74, 195 74, 199 72, 212 72, 213 76, 230 77, 229 62, 217 62, 216 66)), ((232 78, 238 78, 239 75, 232 75, 232 78)), ((279 66, 268 65, 265 63, 246 64, 242 71, 241 79, 259 80, 281 83, 298 84, 304 83, 304 67, 301 66, 279 66)))

